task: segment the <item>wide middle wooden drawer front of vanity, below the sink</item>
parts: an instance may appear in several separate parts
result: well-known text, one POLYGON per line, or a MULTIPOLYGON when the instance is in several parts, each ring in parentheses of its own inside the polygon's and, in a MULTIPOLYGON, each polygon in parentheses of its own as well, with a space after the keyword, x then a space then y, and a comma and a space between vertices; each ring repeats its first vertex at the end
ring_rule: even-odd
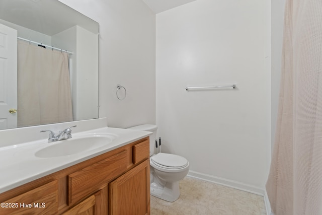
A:
POLYGON ((68 175, 68 205, 99 190, 127 169, 127 153, 122 151, 68 175))

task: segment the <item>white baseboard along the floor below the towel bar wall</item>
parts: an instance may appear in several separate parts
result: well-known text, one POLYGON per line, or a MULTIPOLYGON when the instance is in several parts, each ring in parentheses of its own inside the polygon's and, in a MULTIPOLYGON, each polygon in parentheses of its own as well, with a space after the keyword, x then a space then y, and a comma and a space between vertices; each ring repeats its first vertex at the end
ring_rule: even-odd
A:
POLYGON ((253 185, 249 185, 249 184, 244 184, 238 181, 233 181, 233 180, 229 180, 229 179, 225 179, 225 178, 220 178, 220 177, 216 177, 213 175, 208 175, 208 174, 204 174, 204 173, 199 173, 199 172, 195 172, 195 171, 191 171, 189 170, 189 173, 187 175, 188 177, 192 177, 192 178, 197 178, 200 180, 204 180, 204 181, 209 181, 212 183, 216 183, 216 184, 220 184, 226 187, 231 187, 234 189, 238 189, 238 190, 243 190, 246 192, 250 192, 250 193, 254 193, 257 195, 261 195, 264 197, 264 203, 265 203, 265 207, 266 207, 266 214, 267 215, 274 215, 274 213, 272 212, 271 209, 271 205, 270 202, 268 200, 268 196, 267 196, 267 192, 265 188, 260 188, 260 187, 256 187, 253 185))

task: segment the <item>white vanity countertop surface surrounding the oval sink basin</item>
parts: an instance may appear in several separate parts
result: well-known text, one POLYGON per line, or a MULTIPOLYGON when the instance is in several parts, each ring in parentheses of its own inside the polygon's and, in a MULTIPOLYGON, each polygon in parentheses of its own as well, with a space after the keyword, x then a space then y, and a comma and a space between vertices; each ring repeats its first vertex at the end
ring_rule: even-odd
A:
POLYGON ((151 132, 106 126, 81 132, 72 132, 72 138, 86 134, 104 133, 112 134, 115 138, 109 144, 97 149, 61 157, 39 158, 35 156, 35 153, 64 140, 48 142, 48 138, 45 138, 18 145, 0 147, 0 193, 125 146, 130 142, 148 136, 151 132))

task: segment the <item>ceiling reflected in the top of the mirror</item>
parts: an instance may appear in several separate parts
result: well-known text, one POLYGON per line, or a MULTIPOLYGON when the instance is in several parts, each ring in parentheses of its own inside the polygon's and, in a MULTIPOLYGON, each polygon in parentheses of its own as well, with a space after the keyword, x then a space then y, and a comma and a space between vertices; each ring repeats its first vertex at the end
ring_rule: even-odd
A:
POLYGON ((0 19, 48 36, 75 25, 93 33, 97 33, 99 29, 97 22, 53 0, 0 0, 0 19))

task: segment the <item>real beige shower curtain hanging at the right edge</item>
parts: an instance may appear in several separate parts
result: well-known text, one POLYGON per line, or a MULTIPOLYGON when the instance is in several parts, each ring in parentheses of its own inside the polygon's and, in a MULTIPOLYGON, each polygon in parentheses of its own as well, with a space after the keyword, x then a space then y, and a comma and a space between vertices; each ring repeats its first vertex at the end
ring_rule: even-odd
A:
POLYGON ((286 0, 272 210, 322 214, 322 1, 286 0))

